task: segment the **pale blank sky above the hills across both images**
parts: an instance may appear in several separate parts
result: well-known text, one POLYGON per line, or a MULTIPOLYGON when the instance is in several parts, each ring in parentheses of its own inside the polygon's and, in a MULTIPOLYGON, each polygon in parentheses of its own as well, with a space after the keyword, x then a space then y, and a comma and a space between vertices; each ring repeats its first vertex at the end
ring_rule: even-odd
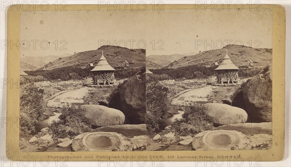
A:
POLYGON ((48 56, 117 45, 148 55, 221 49, 227 44, 272 48, 272 11, 25 11, 21 56, 48 56))

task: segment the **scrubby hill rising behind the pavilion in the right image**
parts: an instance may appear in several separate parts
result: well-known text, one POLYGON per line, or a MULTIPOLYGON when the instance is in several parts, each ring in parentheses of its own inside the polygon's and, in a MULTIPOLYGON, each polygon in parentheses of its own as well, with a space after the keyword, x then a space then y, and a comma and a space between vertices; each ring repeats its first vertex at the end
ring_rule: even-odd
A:
POLYGON ((248 59, 254 62, 255 67, 264 67, 272 62, 272 49, 250 48, 241 45, 227 45, 219 50, 207 50, 196 55, 183 57, 169 64, 169 68, 186 67, 192 65, 212 66, 214 62, 220 64, 226 55, 237 66, 245 66, 248 59))

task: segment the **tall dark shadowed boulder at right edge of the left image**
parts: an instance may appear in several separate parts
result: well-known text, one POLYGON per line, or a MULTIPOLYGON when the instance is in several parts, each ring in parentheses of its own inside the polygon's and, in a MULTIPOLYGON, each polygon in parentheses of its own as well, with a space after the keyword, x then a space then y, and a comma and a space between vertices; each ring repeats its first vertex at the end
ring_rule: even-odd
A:
POLYGON ((146 78, 143 71, 132 76, 119 87, 109 106, 121 110, 128 124, 146 123, 146 78))

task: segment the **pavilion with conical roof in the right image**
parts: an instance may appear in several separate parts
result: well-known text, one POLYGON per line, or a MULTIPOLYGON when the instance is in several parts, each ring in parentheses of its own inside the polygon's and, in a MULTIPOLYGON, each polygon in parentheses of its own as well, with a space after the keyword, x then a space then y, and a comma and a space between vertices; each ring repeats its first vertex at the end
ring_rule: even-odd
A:
POLYGON ((215 69, 217 73, 217 83, 237 83, 239 79, 239 69, 240 68, 232 63, 226 50, 226 56, 223 58, 222 63, 215 69))

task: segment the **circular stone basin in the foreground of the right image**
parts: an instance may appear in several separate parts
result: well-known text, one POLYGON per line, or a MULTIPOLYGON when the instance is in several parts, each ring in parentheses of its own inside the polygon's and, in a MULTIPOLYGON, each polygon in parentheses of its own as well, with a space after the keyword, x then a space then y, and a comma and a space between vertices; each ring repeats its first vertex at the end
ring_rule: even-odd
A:
POLYGON ((238 134, 229 131, 210 131, 205 134, 203 140, 213 147, 228 148, 240 143, 238 134))

